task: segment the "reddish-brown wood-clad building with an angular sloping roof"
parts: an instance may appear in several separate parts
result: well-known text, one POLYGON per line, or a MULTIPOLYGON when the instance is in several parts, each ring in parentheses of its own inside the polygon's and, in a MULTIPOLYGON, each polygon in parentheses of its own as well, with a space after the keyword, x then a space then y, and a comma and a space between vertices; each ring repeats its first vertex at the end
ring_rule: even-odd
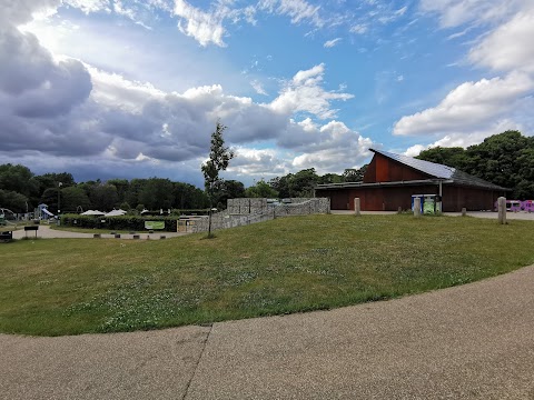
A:
POLYGON ((359 198, 364 211, 397 211, 412 208, 413 194, 439 194, 445 212, 493 210, 510 189, 493 184, 447 166, 380 150, 362 182, 318 184, 316 197, 330 199, 333 210, 354 210, 359 198))

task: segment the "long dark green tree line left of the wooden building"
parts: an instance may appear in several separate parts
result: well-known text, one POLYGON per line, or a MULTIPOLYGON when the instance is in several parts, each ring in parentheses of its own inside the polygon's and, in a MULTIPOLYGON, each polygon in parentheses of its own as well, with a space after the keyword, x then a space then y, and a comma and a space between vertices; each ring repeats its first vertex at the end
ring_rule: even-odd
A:
MULTIPOLYGON (((148 179, 100 179, 76 182, 69 172, 34 174, 21 164, 0 164, 0 207, 13 212, 31 212, 44 203, 57 213, 58 200, 62 213, 89 209, 109 211, 123 210, 198 210, 208 207, 226 208, 234 198, 295 198, 313 197, 317 183, 344 182, 356 179, 353 172, 318 176, 314 168, 288 173, 266 182, 259 180, 249 188, 237 180, 216 180, 209 190, 194 184, 174 182, 164 178, 148 179), (210 199, 211 197, 211 199, 210 199)), ((360 173, 362 174, 362 173, 360 173)))

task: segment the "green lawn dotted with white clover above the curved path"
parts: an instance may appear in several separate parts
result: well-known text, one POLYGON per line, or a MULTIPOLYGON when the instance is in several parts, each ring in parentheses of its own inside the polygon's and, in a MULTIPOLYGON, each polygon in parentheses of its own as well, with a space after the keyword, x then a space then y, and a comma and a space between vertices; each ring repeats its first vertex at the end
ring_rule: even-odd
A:
POLYGON ((530 221, 312 216, 161 241, 0 244, 0 331, 159 329, 328 309, 534 263, 530 221))

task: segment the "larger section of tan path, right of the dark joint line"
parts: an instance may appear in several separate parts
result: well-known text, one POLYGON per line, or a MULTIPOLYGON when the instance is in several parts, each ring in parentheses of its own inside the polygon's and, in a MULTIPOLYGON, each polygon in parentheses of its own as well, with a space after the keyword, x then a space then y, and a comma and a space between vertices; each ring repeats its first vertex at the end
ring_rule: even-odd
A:
POLYGON ((187 399, 534 399, 534 267, 421 296, 216 323, 187 399))

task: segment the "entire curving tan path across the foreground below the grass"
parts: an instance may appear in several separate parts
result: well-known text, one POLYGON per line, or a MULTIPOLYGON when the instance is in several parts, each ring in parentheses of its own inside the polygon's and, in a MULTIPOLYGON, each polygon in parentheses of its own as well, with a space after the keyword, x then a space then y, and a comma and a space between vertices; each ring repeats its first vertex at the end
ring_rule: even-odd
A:
POLYGON ((534 266, 333 311, 0 336, 6 399, 534 399, 534 266))

